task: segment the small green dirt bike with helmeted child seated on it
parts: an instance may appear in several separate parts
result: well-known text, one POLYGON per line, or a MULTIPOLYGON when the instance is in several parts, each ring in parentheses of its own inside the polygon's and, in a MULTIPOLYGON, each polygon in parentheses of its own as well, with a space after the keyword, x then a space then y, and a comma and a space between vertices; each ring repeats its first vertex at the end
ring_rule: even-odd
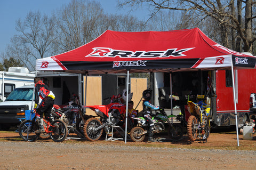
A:
MULTIPOLYGON (((155 116, 152 117, 154 122, 154 133, 160 133, 165 130, 165 122, 168 123, 168 135, 172 141, 179 141, 183 138, 183 128, 179 123, 171 123, 170 119, 175 117, 174 115, 166 115, 163 108, 159 109, 160 112, 156 112, 155 116)), ((137 120, 137 126, 133 127, 130 132, 132 141, 142 142, 145 139, 149 124, 144 117, 135 117, 137 120)))

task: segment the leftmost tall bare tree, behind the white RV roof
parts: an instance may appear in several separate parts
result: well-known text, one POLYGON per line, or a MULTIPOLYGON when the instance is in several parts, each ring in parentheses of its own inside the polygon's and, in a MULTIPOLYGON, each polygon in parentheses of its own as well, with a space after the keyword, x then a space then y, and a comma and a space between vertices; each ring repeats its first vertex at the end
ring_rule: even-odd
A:
POLYGON ((25 20, 17 20, 15 28, 19 34, 11 38, 6 57, 18 59, 29 70, 35 70, 35 60, 47 55, 55 39, 54 27, 54 18, 30 11, 25 20))

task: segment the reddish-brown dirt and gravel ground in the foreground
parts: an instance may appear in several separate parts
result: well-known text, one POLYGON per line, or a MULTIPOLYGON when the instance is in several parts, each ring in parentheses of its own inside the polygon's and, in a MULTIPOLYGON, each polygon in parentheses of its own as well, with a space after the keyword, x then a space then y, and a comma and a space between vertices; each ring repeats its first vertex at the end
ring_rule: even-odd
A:
MULTIPOLYGON (((0 169, 252 169, 256 135, 243 140, 236 132, 211 133, 207 142, 186 139, 135 143, 127 139, 95 142, 51 139, 23 141, 18 133, 0 132, 0 169), (34 160, 34 161, 33 161, 34 160)), ((78 137, 70 134, 69 137, 78 137)))

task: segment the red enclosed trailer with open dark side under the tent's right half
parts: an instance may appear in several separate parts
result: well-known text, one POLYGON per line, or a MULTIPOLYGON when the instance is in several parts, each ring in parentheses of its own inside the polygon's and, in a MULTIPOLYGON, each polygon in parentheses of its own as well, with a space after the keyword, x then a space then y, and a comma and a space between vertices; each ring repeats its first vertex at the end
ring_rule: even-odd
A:
MULTIPOLYGON (((256 78, 256 70, 235 70, 234 77, 238 127, 242 127, 246 121, 250 122, 249 99, 250 94, 256 91, 256 85, 252 82, 256 78)), ((211 107, 211 127, 236 125, 231 70, 173 72, 171 76, 169 73, 156 73, 154 78, 156 105, 171 108, 172 82, 174 115, 181 112, 188 118, 187 101, 196 102, 196 95, 205 95, 211 107)))

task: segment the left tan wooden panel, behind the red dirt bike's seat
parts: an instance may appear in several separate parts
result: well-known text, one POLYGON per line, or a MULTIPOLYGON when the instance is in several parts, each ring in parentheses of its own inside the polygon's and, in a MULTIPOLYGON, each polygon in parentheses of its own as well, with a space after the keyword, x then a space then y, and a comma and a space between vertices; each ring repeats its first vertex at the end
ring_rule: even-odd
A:
MULTIPOLYGON (((101 105, 102 104, 102 78, 101 76, 84 76, 84 99, 86 99, 85 106, 101 105), (86 91, 85 91, 86 88, 86 91), (86 93, 86 94, 85 94, 86 93), (85 98, 86 95, 86 98, 85 98)), ((86 115, 94 115, 94 111, 86 109, 86 115)))

